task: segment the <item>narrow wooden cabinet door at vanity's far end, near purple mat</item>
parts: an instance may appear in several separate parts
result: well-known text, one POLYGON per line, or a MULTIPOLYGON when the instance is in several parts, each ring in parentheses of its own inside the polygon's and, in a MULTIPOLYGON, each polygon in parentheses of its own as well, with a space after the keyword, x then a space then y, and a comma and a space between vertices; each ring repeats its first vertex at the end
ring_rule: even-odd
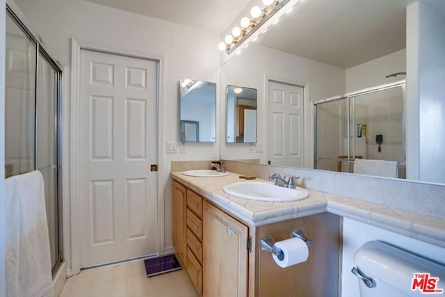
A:
POLYGON ((186 265, 186 206, 187 189, 176 181, 173 181, 173 201, 172 201, 172 220, 173 220, 173 246, 186 265))

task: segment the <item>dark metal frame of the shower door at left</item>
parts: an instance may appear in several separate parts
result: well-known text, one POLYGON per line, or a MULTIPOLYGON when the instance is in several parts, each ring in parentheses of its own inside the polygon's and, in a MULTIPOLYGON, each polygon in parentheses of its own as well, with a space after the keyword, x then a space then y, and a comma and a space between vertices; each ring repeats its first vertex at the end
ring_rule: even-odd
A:
MULTIPOLYGON (((56 63, 56 61, 54 61, 51 56, 48 54, 48 52, 42 47, 42 45, 40 44, 40 41, 38 40, 38 38, 35 38, 35 35, 31 32, 31 30, 26 26, 26 24, 24 24, 24 22, 22 22, 19 19, 19 16, 14 12, 13 8, 9 5, 9 3, 6 3, 6 17, 8 17, 8 14, 10 15, 10 17, 12 17, 13 21, 17 24, 17 26, 19 26, 19 28, 21 28, 24 33, 26 35, 28 35, 28 37, 33 40, 35 42, 35 95, 34 95, 34 100, 35 100, 35 107, 34 107, 34 170, 39 170, 42 168, 37 168, 36 164, 37 164, 37 143, 38 143, 38 138, 37 138, 37 129, 38 129, 38 125, 37 125, 37 121, 38 121, 38 106, 37 106, 37 101, 38 101, 38 70, 39 70, 39 57, 41 56, 45 61, 47 61, 47 63, 49 63, 49 65, 51 65, 51 68, 54 70, 54 73, 56 74, 55 77, 55 83, 56 85, 55 87, 55 92, 54 95, 56 96, 55 98, 55 106, 54 106, 54 111, 55 111, 55 130, 54 130, 54 136, 55 136, 55 149, 56 149, 56 193, 57 193, 57 217, 56 220, 58 221, 58 232, 57 232, 57 236, 58 236, 58 258, 56 260, 56 264, 54 264, 54 268, 51 267, 51 273, 52 273, 52 277, 54 278, 56 273, 58 273, 58 270, 61 266, 61 264, 63 263, 63 261, 65 260, 64 257, 64 244, 63 244, 63 188, 62 188, 62 152, 63 152, 63 147, 62 147, 62 124, 63 124, 63 109, 62 109, 62 96, 63 96, 63 88, 62 88, 62 82, 63 82, 63 71, 62 71, 62 67, 60 67, 58 65, 58 63, 56 63)), ((52 266, 52 264, 51 264, 52 266)))

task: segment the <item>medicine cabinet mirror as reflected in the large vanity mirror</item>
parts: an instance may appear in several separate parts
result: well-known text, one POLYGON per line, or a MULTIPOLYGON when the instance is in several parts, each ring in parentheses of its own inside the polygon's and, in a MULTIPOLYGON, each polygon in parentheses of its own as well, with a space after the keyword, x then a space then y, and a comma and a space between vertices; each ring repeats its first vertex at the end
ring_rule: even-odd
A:
POLYGON ((227 86, 227 143, 257 142, 257 90, 227 86))

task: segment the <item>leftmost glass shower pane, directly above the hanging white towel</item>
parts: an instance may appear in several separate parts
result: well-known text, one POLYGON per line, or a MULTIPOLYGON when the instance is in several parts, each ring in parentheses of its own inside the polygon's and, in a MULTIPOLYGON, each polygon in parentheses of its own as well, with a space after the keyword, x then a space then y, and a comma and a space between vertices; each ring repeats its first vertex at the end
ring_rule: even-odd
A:
POLYGON ((15 19, 6 17, 5 175, 34 170, 37 44, 15 19))

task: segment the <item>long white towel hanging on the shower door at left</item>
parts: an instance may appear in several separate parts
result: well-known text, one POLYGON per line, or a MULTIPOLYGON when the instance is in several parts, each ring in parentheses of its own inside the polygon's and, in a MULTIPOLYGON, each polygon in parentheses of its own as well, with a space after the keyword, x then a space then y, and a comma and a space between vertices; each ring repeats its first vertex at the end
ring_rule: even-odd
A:
POLYGON ((6 296, 53 296, 40 171, 5 180, 6 296))

